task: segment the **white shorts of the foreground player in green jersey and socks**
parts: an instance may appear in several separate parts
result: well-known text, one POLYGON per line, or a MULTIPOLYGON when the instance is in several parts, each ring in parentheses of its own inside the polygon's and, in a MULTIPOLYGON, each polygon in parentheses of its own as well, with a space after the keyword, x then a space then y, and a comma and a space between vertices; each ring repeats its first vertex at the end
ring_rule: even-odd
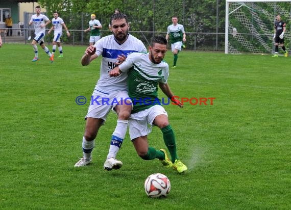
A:
POLYGON ((153 122, 158 115, 168 116, 165 109, 160 105, 155 105, 150 109, 131 114, 129 118, 130 139, 133 140, 151 133, 153 122))

